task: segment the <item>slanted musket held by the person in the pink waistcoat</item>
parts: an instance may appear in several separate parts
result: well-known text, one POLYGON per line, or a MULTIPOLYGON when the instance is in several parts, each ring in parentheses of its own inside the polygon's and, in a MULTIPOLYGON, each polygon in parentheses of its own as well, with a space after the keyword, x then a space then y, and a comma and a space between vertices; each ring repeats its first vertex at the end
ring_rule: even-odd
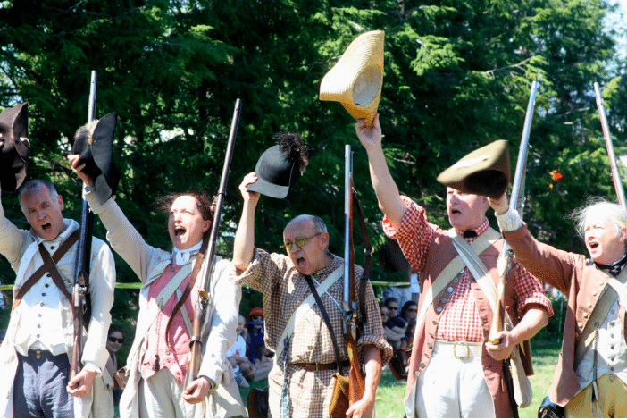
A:
POLYGON ((203 325, 207 307, 211 303, 209 290, 211 286, 211 278, 215 269, 215 243, 218 239, 218 231, 220 228, 220 219, 222 217, 222 205, 226 196, 227 182, 229 181, 230 160, 233 156, 233 148, 235 147, 235 138, 238 135, 239 113, 241 111, 241 101, 235 101, 235 110, 233 111, 233 119, 230 123, 229 142, 227 143, 227 152, 224 156, 224 166, 222 167, 222 178, 220 180, 220 189, 218 196, 215 198, 215 209, 213 211, 213 222, 211 225, 211 234, 206 251, 206 264, 202 273, 203 282, 198 290, 198 299, 196 300, 196 308, 194 312, 194 326, 192 328, 192 336, 189 341, 189 349, 191 355, 189 357, 188 374, 186 383, 193 382, 198 378, 200 363, 202 362, 203 349, 203 325))

